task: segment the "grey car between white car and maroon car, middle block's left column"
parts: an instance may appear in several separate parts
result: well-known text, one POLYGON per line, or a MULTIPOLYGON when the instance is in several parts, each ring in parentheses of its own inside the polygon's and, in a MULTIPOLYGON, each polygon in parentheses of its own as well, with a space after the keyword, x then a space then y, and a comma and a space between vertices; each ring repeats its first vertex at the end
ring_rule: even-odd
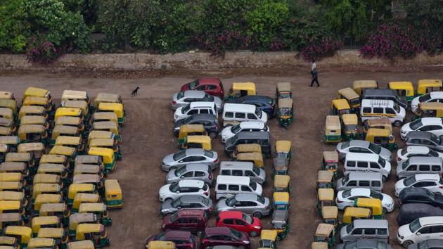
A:
POLYGON ((203 196, 180 196, 162 203, 160 214, 172 214, 182 209, 200 209, 210 213, 212 212, 212 200, 203 196))

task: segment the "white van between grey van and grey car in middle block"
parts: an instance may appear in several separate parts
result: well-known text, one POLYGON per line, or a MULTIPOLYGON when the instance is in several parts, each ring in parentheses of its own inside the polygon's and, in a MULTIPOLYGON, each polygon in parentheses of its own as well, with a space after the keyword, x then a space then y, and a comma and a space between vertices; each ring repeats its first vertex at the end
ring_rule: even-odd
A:
POLYGON ((249 177, 232 177, 221 176, 217 177, 217 183, 215 184, 215 198, 229 198, 235 196, 237 193, 255 193, 258 196, 262 196, 262 185, 251 181, 249 177))

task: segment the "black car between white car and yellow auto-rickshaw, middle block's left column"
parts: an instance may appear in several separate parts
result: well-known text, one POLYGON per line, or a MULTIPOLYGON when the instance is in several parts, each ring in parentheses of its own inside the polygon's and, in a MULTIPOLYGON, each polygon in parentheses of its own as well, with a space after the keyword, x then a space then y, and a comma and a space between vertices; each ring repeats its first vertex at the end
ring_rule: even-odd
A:
POLYGON ((181 125, 203 125, 207 134, 214 139, 219 134, 219 120, 212 114, 194 114, 181 120, 177 120, 174 124, 174 134, 180 133, 181 125))

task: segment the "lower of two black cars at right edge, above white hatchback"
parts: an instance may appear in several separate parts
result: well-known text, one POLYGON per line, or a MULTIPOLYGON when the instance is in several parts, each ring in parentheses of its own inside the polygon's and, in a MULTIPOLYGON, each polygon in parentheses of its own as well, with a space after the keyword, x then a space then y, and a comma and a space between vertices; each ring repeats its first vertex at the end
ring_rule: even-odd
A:
MULTIPOLYGON (((401 195, 402 194, 400 194, 400 196, 401 195)), ((399 214, 397 215, 397 224, 399 226, 403 226, 404 224, 409 224, 413 222, 414 219, 428 216, 443 216, 443 210, 441 208, 433 207, 432 205, 424 203, 403 204, 400 207, 399 214)))

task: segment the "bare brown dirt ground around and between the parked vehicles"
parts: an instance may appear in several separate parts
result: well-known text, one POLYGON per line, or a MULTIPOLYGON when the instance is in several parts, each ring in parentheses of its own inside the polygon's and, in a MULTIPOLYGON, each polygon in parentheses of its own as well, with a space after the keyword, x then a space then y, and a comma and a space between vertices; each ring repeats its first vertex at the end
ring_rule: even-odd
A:
MULTIPOLYGON (((110 248, 143 248, 146 238, 160 232, 162 217, 158 189, 165 184, 165 172, 160 169, 160 160, 168 153, 177 150, 176 139, 172 132, 173 111, 170 109, 172 94, 182 84, 191 81, 188 77, 89 77, 81 74, 18 74, 0 77, 0 89, 13 91, 21 98, 26 87, 43 87, 51 91, 56 103, 60 103, 63 89, 87 91, 94 97, 98 92, 121 94, 127 110, 127 125, 122 129, 122 151, 124 158, 118 162, 117 169, 109 175, 119 179, 124 193, 124 208, 113 210, 113 226, 107 228, 111 238, 110 248), (141 87, 139 95, 131 98, 130 92, 141 87)), ((232 82, 251 81, 257 84, 261 95, 274 96, 277 82, 291 82, 294 93, 295 122, 288 129, 278 127, 276 120, 271 120, 270 129, 273 141, 287 139, 293 142, 295 157, 290 165, 292 192, 290 195, 291 231, 280 248, 309 248, 312 242, 319 216, 315 208, 316 172, 321 162, 323 150, 334 150, 323 141, 325 116, 331 99, 336 97, 338 89, 349 87, 355 79, 375 79, 385 86, 389 81, 409 80, 417 82, 424 78, 443 78, 443 70, 432 72, 325 72, 319 75, 321 87, 308 87, 309 74, 293 77, 265 75, 237 75, 221 78, 225 89, 232 82)), ((398 129, 396 129, 398 133, 398 129)), ((224 158, 223 146, 219 138, 213 146, 224 158)), ((267 160, 267 172, 271 162, 267 160)), ((396 165, 392 168, 395 169, 396 165)), ((392 174, 395 174, 394 170, 392 174)), ((270 174, 269 174, 270 175, 270 174)), ((395 177, 385 185, 385 193, 394 196, 395 177)), ((271 198, 271 183, 265 186, 265 196, 271 198)), ((396 242, 397 224, 395 211, 387 215, 390 222, 390 238, 394 248, 400 248, 396 242)), ((213 219, 212 219, 213 222, 213 219)), ((270 218, 262 220, 264 227, 270 227, 270 218)), ((212 223, 213 224, 213 223, 212 223)), ((257 239, 253 247, 257 248, 257 239)))

